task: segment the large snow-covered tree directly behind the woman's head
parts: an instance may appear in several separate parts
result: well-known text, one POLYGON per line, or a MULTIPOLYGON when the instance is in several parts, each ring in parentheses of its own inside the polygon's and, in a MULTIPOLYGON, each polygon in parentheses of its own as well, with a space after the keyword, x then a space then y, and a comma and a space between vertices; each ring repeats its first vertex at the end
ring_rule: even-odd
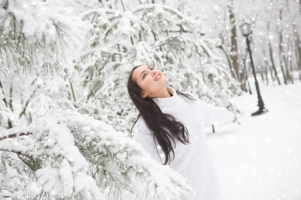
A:
POLYGON ((194 16, 165 1, 134 7, 123 3, 121 9, 99 4, 84 12, 82 18, 90 23, 89 43, 75 60, 75 68, 83 74, 83 85, 89 89, 85 105, 79 105, 86 113, 116 130, 129 132, 137 110, 129 104, 126 80, 133 66, 148 64, 161 69, 169 85, 225 105, 239 116, 227 96, 241 93, 239 83, 215 50, 219 41, 201 36, 194 16), (225 78, 226 85, 207 85, 204 76, 217 84, 218 79, 225 78), (94 111, 90 110, 91 102, 94 111))

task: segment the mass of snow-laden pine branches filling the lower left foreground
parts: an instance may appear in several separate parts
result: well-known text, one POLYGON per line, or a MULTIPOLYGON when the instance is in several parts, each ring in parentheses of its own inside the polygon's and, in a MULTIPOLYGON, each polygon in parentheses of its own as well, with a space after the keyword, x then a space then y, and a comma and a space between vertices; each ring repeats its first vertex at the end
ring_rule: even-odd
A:
MULTIPOLYGON (((45 114, 29 127, 11 128, 0 133, 18 136, 26 131, 32 132, 27 135, 33 142, 30 147, 15 147, 17 141, 11 138, 14 143, 8 145, 3 140, 0 150, 15 153, 28 167, 31 167, 29 159, 43 159, 31 170, 35 179, 20 174, 29 183, 22 185, 20 179, 22 189, 10 196, 49 193, 55 198, 103 199, 102 191, 109 189, 109 194, 115 197, 129 193, 139 198, 145 190, 145 199, 187 199, 186 195, 192 191, 188 181, 170 166, 157 163, 140 144, 87 114, 70 109, 53 110, 51 115, 45 114), (145 188, 141 188, 138 181, 145 183, 145 188)), ((16 166, 8 161, 8 157, 2 155, 1 158, 6 166, 3 175, 8 177, 8 167, 16 166)), ((3 188, 11 185, 8 181, 3 188)))

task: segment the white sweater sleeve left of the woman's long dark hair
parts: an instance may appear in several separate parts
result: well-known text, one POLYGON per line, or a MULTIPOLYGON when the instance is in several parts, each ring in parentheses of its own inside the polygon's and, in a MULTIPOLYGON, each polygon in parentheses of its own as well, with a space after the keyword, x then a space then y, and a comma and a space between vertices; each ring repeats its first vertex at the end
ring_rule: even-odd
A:
POLYGON ((156 160, 160 164, 164 163, 163 161, 165 161, 165 158, 163 159, 161 157, 165 157, 165 156, 160 151, 161 148, 160 147, 158 148, 158 151, 161 154, 160 156, 156 148, 156 143, 154 141, 153 134, 149 131, 146 124, 142 122, 142 120, 140 119, 137 121, 137 125, 135 125, 133 139, 138 143, 140 143, 143 149, 147 153, 149 153, 154 160, 156 160))

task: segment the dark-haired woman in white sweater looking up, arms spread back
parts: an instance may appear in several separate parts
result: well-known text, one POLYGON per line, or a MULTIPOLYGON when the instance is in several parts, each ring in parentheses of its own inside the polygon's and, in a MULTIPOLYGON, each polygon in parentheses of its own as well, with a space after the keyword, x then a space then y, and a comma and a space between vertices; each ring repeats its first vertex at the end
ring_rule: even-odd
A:
POLYGON ((169 164, 190 181, 194 195, 189 199, 222 199, 203 126, 231 122, 234 114, 166 83, 164 73, 152 66, 131 70, 127 90, 139 111, 133 138, 153 159, 169 164))

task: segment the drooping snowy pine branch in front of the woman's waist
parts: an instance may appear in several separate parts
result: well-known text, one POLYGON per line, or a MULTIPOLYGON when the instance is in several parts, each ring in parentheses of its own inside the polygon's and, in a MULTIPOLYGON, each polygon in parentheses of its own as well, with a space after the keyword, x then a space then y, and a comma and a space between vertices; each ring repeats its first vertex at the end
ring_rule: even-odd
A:
POLYGON ((78 141, 85 140, 78 142, 81 152, 97 167, 98 173, 106 174, 99 179, 109 178, 106 183, 115 195, 122 191, 134 192, 128 182, 133 175, 148 183, 148 199, 179 199, 191 191, 183 176, 151 159, 140 144, 124 133, 88 115, 68 114, 65 123, 78 141))

